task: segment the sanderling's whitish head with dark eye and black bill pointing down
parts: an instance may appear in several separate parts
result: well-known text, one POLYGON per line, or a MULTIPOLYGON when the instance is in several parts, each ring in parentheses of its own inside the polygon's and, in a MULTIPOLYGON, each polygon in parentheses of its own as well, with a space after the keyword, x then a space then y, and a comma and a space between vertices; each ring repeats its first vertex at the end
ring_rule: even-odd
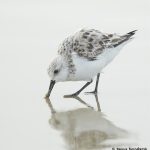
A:
POLYGON ((47 95, 47 97, 49 97, 56 82, 63 82, 67 80, 68 76, 67 63, 61 56, 58 56, 52 60, 47 71, 51 79, 48 92, 49 94, 47 95))

